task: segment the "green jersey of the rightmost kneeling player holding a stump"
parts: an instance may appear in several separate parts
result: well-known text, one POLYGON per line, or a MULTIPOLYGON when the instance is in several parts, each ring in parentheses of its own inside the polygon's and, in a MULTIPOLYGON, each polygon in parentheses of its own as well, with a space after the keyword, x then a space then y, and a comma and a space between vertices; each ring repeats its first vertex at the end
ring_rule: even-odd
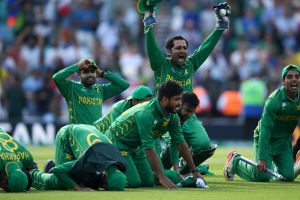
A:
POLYGON ((270 145, 271 141, 280 143, 290 138, 299 119, 300 99, 289 100, 284 87, 275 90, 266 100, 262 118, 254 131, 254 139, 258 140, 259 160, 266 160, 268 153, 276 148, 270 145))

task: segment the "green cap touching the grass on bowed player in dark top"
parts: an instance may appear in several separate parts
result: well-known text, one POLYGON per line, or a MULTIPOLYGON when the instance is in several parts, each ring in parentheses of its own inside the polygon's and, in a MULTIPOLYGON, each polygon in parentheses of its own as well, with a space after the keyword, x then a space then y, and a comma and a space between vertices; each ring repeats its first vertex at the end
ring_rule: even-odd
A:
POLYGON ((110 166, 107 170, 107 189, 121 191, 126 186, 126 176, 116 166, 110 166))

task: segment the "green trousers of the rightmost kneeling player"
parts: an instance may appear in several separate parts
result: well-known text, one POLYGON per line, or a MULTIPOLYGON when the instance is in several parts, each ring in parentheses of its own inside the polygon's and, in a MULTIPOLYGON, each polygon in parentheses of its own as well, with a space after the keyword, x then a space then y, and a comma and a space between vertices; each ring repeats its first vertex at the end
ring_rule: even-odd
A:
MULTIPOLYGON (((254 141, 253 149, 254 161, 258 162, 258 141, 254 141)), ((266 163, 267 168, 281 174, 286 181, 294 180, 294 161, 290 138, 271 140, 266 163)), ((233 161, 233 172, 247 181, 267 182, 272 178, 271 175, 239 160, 239 157, 233 161)))

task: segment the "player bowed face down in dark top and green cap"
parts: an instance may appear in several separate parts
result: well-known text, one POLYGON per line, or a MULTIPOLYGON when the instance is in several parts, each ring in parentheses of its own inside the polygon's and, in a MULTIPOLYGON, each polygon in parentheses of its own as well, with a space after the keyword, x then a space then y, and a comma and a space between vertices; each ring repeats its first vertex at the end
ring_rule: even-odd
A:
POLYGON ((78 160, 51 168, 50 173, 32 170, 32 187, 39 190, 124 190, 126 164, 110 143, 96 142, 78 160))

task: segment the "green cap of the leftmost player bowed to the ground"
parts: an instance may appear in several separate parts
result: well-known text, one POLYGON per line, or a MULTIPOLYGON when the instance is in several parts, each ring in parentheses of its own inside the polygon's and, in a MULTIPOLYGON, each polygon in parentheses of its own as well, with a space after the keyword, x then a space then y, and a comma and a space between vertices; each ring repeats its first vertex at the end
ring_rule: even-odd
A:
POLYGON ((7 163, 5 166, 7 174, 8 189, 10 192, 24 192, 28 185, 26 174, 16 162, 7 163))

